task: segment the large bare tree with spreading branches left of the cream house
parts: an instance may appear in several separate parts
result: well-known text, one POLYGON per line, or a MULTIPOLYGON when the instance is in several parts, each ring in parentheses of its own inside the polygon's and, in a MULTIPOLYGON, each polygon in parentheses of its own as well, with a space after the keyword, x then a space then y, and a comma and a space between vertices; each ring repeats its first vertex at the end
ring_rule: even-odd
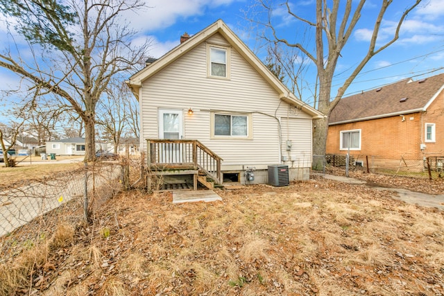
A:
POLYGON ((55 94, 69 105, 85 127, 85 161, 94 159, 96 105, 110 80, 133 69, 146 51, 134 49, 135 32, 120 18, 139 10, 139 0, 0 0, 4 15, 17 19, 16 30, 31 44, 40 44, 51 63, 34 57, 31 67, 9 51, 0 67, 31 82, 39 96, 55 94), (123 25, 122 25, 123 24, 123 25))

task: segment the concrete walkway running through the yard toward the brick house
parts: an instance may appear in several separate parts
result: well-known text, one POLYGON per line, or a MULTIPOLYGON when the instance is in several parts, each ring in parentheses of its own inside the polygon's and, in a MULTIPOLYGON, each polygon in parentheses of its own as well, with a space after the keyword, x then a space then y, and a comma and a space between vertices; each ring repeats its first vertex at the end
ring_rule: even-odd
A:
MULTIPOLYGON (((334 180, 337 182, 343 182, 348 184, 366 184, 365 181, 353 179, 350 177, 341 177, 341 176, 327 175, 327 174, 325 175, 318 174, 318 175, 324 177, 325 179, 334 180)), ((434 194, 415 192, 400 188, 386 188, 379 186, 370 186, 370 187, 377 190, 395 191, 396 193, 398 193, 398 197, 395 197, 396 199, 402 200, 409 204, 418 204, 424 207, 435 207, 437 209, 441 209, 441 211, 444 210, 444 194, 434 195, 434 194)))

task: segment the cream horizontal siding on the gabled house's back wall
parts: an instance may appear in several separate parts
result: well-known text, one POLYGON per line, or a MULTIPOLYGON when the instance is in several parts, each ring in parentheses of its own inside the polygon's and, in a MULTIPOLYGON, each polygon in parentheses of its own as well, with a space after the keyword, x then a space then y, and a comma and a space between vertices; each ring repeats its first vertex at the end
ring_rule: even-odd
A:
MULTIPOLYGON (((221 35, 210 43, 227 44, 221 35)), ((230 80, 207 78, 206 44, 200 44, 187 55, 146 80, 141 91, 142 145, 144 139, 158 137, 157 110, 179 108, 184 112, 184 138, 198 139, 223 158, 225 168, 260 166, 280 163, 280 145, 291 139, 295 150, 291 155, 311 158, 311 117, 290 110, 277 92, 259 76, 244 58, 231 49, 230 80), (194 114, 187 114, 189 108, 194 114), (253 139, 210 139, 210 110, 253 113, 253 139), (278 120, 289 118, 282 127, 278 120), (287 137, 288 135, 288 137, 287 137), (284 137, 285 136, 285 137, 284 137), (283 142, 283 143, 282 143, 283 142)), ((291 164, 289 164, 291 166, 291 164)), ((307 164, 309 167, 311 162, 307 164)))

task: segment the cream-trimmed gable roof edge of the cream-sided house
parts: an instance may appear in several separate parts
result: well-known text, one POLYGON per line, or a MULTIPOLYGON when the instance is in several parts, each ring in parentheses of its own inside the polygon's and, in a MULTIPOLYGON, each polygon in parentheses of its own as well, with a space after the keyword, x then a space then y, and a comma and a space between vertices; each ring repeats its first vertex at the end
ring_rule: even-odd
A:
POLYGON ((248 64, 253 67, 260 76, 262 76, 276 92, 278 92, 280 99, 286 101, 287 103, 294 105, 296 107, 300 107, 307 114, 311 115, 315 119, 322 118, 324 115, 313 107, 307 105, 307 103, 302 102, 294 94, 292 94, 287 87, 284 86, 282 82, 276 76, 271 73, 270 70, 262 63, 259 58, 248 49, 248 46, 242 42, 236 34, 231 31, 230 28, 221 20, 215 21, 207 28, 204 28, 199 33, 189 37, 186 42, 179 44, 174 49, 165 53, 161 58, 155 60, 152 64, 148 64, 147 67, 142 69, 141 71, 135 73, 133 76, 126 81, 126 84, 133 91, 133 94, 139 99, 139 88, 142 86, 142 82, 144 80, 150 78, 155 75, 155 73, 164 69, 169 64, 178 60, 178 58, 185 55, 196 46, 205 42, 208 38, 212 37, 212 35, 220 33, 225 39, 230 43, 230 45, 236 49, 236 51, 248 62, 248 64))

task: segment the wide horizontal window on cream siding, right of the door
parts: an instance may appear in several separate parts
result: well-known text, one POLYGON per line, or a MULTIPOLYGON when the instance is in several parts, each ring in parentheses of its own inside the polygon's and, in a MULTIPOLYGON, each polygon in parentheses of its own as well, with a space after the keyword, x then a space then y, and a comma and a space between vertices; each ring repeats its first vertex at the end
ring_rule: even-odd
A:
POLYGON ((250 139, 251 120, 251 114, 213 113, 212 138, 250 139))

